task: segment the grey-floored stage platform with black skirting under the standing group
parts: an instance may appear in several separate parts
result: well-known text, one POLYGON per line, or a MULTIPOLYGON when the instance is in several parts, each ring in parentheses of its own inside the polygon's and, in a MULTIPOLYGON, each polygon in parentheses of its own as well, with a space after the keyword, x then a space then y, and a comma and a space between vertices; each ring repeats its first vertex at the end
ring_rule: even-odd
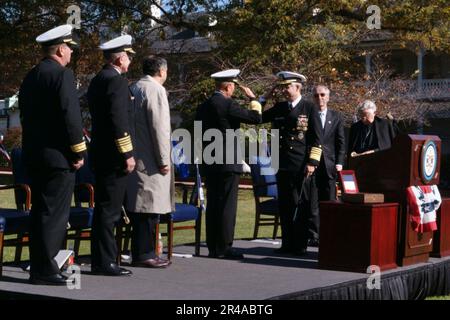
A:
MULTIPOLYGON (((201 257, 173 258, 167 269, 130 268, 131 277, 89 274, 82 265, 80 289, 28 284, 28 272, 6 265, 1 299, 86 300, 264 300, 264 299, 423 299, 450 293, 450 258, 434 259, 382 272, 380 289, 368 289, 368 274, 320 270, 317 248, 305 257, 273 253, 276 243, 235 241, 241 261, 201 257)), ((193 253, 179 246, 176 253, 193 253)))

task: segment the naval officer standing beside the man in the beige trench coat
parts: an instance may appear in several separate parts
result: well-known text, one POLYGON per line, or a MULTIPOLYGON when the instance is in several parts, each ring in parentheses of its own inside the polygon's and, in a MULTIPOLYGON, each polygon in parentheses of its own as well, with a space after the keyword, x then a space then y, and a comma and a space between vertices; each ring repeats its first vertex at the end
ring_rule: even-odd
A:
POLYGON ((95 209, 92 225, 92 272, 123 276, 131 271, 116 263, 115 224, 120 220, 127 176, 134 170, 128 110, 128 81, 132 38, 123 35, 100 46, 106 60, 92 79, 87 97, 92 117, 90 160, 95 173, 95 209))

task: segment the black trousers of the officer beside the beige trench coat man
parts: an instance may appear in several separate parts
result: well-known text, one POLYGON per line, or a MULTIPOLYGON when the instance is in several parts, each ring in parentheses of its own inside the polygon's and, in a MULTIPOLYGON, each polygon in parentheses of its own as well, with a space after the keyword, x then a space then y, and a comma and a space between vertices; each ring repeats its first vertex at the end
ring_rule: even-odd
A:
POLYGON ((117 261, 114 227, 121 218, 128 176, 118 171, 95 171, 95 208, 92 221, 92 267, 117 261))

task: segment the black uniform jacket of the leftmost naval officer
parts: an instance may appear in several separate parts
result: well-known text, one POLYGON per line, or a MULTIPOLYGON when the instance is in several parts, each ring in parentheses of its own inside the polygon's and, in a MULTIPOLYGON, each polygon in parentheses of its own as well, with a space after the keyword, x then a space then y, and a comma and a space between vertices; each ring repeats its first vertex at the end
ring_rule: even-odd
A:
POLYGON ((82 158, 86 144, 71 70, 43 59, 22 82, 19 108, 23 156, 29 166, 69 169, 82 158))

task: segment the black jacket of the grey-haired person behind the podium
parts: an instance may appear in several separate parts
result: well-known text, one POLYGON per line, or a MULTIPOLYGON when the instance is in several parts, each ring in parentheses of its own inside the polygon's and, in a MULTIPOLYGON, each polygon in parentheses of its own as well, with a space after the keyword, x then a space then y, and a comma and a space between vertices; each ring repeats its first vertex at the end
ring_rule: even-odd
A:
MULTIPOLYGON (((364 124, 360 120, 350 127, 347 151, 348 157, 350 157, 350 154, 355 151, 356 140, 358 138, 359 132, 363 130, 363 126, 364 124)), ((376 148, 375 151, 389 149, 392 145, 392 140, 394 140, 395 138, 395 132, 394 128, 392 127, 392 123, 388 120, 381 119, 375 116, 374 126, 375 134, 378 140, 378 148, 376 148)))

